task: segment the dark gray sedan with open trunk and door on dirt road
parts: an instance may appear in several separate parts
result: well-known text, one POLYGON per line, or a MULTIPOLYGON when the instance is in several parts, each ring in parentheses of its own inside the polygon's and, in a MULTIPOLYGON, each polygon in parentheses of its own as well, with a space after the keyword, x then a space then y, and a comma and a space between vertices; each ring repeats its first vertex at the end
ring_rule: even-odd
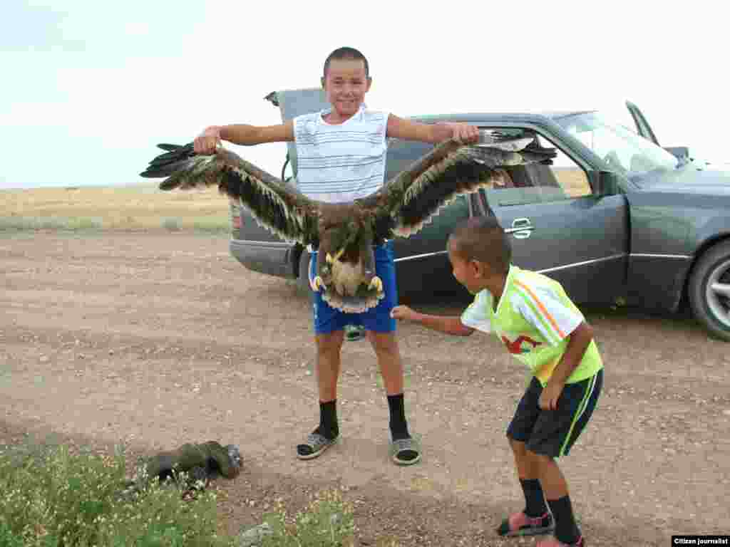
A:
MULTIPOLYGON (((267 98, 285 120, 326 106, 315 89, 267 98)), ((636 131, 601 112, 413 117, 522 132, 556 147, 558 158, 509 168, 504 185, 462 196, 420 233, 396 238, 401 301, 468 301, 451 274, 446 240, 458 220, 491 214, 510 233, 513 262, 557 279, 577 303, 677 311, 686 301, 710 333, 730 341, 730 174, 692 160, 685 147, 660 147, 639 109, 627 106, 636 131)), ((296 184, 293 144, 288 150, 288 181, 296 184)), ((429 150, 391 141, 386 180, 429 150)), ((237 260, 309 290, 306 249, 260 228, 239 203, 231 202, 231 218, 237 260)))

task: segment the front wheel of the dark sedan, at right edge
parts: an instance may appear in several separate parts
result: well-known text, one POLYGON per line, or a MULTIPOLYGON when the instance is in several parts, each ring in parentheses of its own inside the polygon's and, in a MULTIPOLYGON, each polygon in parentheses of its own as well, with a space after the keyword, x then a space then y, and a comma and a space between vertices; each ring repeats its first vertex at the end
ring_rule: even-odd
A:
POLYGON ((730 341, 730 241, 710 247, 699 258, 688 295, 695 319, 716 338, 730 341), (728 291, 718 290, 718 285, 727 285, 728 291))

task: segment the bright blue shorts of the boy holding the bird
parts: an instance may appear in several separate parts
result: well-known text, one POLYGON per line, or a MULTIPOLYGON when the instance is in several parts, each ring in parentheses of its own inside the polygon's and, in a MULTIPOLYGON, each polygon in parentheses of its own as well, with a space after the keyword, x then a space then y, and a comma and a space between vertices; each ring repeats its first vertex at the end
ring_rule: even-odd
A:
MULTIPOLYGON (((374 247, 375 274, 383 282, 385 296, 377 306, 361 314, 346 314, 334 309, 322 299, 321 292, 311 291, 314 309, 315 333, 328 334, 342 330, 345 325, 361 325, 376 333, 393 333, 396 320, 391 317, 391 309, 398 306, 396 287, 396 264, 393 262, 393 242, 374 247)), ((317 275, 317 252, 310 252, 310 281, 317 275)))

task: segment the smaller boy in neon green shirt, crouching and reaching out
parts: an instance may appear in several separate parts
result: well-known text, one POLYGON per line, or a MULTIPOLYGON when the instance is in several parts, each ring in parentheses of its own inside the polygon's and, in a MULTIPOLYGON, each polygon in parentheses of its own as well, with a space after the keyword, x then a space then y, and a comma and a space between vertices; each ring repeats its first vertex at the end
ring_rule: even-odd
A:
POLYGON ((448 253, 454 277, 475 295, 461 317, 420 314, 407 306, 391 314, 447 334, 495 333, 528 366, 531 382, 507 428, 526 507, 497 533, 554 531, 555 538, 537 547, 584 547, 556 458, 568 454, 601 392, 603 362, 593 329, 558 282, 511 264, 510 241, 494 217, 458 225, 448 253))

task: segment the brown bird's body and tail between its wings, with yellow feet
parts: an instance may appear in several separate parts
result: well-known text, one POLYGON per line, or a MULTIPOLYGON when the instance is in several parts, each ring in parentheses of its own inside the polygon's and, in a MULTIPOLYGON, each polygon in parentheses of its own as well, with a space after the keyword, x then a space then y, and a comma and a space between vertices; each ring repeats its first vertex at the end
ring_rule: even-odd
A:
POLYGON ((318 276, 314 290, 333 308, 359 313, 377 306, 383 283, 375 275, 373 230, 356 206, 330 206, 319 221, 318 276))

